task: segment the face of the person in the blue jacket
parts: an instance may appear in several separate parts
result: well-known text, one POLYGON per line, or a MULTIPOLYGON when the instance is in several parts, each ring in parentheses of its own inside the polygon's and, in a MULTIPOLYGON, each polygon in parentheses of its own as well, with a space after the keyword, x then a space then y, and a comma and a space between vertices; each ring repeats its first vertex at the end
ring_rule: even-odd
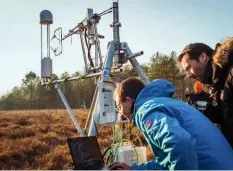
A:
POLYGON ((116 105, 120 115, 125 116, 127 119, 131 120, 131 99, 129 97, 126 100, 122 101, 118 95, 115 97, 116 105))

